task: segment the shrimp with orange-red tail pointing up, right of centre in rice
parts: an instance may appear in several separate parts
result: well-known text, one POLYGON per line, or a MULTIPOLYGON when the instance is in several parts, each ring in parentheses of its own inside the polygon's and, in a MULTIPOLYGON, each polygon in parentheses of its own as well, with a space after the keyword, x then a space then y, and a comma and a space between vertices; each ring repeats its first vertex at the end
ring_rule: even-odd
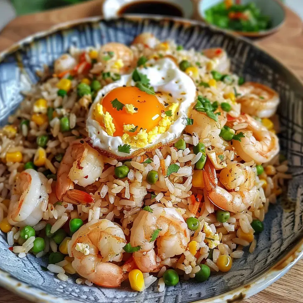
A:
MULTIPOLYGON (((235 174, 238 174, 239 171, 242 170, 242 168, 239 167, 234 167, 233 169, 235 170, 235 174)), ((223 174, 222 174, 222 178, 223 178, 223 174)), ((230 179, 231 178, 228 177, 229 182, 230 179)), ((255 186, 252 186, 250 189, 248 189, 249 186, 254 184, 253 180, 244 182, 242 190, 239 191, 228 192, 226 189, 218 186, 218 178, 217 178, 216 170, 214 166, 211 164, 211 161, 209 159, 206 160, 206 163, 203 168, 203 180, 204 180, 208 199, 213 204, 218 206, 218 208, 221 208, 226 211, 238 213, 245 210, 246 208, 248 208, 248 206, 251 205, 251 203, 253 203, 257 195, 257 189, 255 186), (245 188, 244 184, 248 188, 245 188)), ((226 181, 226 179, 224 181, 226 181)), ((242 184, 241 179, 239 181, 240 184, 242 184)), ((233 185, 231 185, 231 187, 233 187, 233 185)))

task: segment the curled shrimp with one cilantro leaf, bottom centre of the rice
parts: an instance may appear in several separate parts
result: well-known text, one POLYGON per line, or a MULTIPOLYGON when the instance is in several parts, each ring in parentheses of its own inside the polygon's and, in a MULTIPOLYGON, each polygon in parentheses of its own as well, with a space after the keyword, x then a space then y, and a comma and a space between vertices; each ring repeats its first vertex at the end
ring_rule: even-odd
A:
POLYGON ((157 241, 157 256, 164 260, 181 255, 189 242, 188 226, 176 208, 157 207, 153 212, 140 211, 131 230, 132 247, 140 246, 133 259, 142 272, 159 271, 154 251, 157 241), (151 241, 154 232, 160 229, 157 240, 151 241))

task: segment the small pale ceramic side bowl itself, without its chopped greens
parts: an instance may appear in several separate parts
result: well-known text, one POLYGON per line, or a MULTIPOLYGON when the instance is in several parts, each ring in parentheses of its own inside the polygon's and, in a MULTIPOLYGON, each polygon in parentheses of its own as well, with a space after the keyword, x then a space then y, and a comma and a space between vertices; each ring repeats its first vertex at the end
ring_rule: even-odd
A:
MULTIPOLYGON (((208 8, 222 2, 222 0, 200 0, 198 3, 198 14, 205 21, 205 11, 208 8)), ((263 15, 268 15, 271 18, 272 26, 270 29, 259 32, 236 32, 238 35, 246 37, 262 37, 276 32, 285 21, 285 8, 279 0, 241 0, 241 4, 254 2, 261 9, 263 15)))

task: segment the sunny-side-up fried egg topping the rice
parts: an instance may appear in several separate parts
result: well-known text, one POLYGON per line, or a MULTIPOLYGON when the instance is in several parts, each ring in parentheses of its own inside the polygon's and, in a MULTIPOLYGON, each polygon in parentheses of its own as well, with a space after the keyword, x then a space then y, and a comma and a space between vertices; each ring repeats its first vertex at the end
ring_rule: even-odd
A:
POLYGON ((195 102, 193 80, 170 58, 152 59, 138 72, 146 75, 155 94, 136 87, 132 73, 122 75, 99 90, 88 113, 92 147, 115 158, 131 158, 175 142, 195 102))

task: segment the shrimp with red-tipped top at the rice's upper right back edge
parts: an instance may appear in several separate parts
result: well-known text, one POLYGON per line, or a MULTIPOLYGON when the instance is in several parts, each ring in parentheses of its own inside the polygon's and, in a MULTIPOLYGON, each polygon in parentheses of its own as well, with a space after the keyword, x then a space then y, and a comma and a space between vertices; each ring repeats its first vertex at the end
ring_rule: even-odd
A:
POLYGON ((210 70, 216 70, 221 73, 228 73, 230 60, 227 53, 222 48, 203 49, 203 55, 212 60, 210 70))

